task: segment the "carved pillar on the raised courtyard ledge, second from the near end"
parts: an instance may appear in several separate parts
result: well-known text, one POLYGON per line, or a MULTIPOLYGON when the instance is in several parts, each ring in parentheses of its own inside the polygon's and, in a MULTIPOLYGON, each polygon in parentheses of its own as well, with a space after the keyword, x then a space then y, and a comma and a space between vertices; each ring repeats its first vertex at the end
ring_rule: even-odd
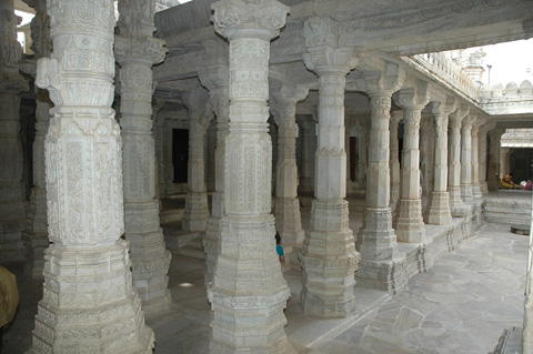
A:
POLYGON ((395 95, 403 108, 403 152, 400 202, 394 219, 398 241, 424 242, 425 229, 420 199, 419 132, 422 109, 429 102, 428 82, 418 80, 414 88, 404 88, 395 95))

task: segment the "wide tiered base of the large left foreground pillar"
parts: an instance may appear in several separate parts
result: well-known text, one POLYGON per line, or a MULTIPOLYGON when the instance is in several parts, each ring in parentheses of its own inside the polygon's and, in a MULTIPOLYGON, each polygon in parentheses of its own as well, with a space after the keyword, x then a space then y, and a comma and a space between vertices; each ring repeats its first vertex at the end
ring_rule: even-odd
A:
POLYGON ((125 241, 89 250, 52 245, 46 257, 44 295, 27 353, 152 353, 125 241))

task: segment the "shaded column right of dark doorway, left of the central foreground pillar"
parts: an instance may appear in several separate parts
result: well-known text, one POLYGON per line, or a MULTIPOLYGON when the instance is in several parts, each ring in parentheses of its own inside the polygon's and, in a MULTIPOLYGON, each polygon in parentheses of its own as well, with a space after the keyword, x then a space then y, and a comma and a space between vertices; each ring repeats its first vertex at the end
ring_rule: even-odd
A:
POLYGON ((208 227, 209 206, 205 185, 204 143, 209 122, 213 118, 211 103, 205 89, 197 88, 183 94, 183 103, 189 112, 189 162, 187 165, 187 199, 183 230, 205 231, 208 227))

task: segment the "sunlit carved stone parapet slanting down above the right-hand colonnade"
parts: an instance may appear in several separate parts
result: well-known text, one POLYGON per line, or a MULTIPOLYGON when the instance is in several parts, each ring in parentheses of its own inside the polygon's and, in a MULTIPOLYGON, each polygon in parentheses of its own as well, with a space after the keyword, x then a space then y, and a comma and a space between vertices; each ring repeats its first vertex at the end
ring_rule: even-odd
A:
POLYGON ((452 60, 446 52, 403 57, 402 60, 445 87, 479 102, 481 82, 466 74, 463 67, 452 60))

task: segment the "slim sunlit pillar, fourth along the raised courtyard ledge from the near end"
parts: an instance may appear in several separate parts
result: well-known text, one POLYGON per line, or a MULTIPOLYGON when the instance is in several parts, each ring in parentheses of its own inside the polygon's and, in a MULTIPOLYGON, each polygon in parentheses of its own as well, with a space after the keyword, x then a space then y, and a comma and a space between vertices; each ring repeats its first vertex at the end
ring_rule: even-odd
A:
POLYGON ((452 216, 459 218, 464 214, 463 200, 461 199, 461 122, 469 114, 469 107, 461 104, 457 110, 450 114, 449 122, 449 171, 447 192, 450 194, 450 209, 452 216))

